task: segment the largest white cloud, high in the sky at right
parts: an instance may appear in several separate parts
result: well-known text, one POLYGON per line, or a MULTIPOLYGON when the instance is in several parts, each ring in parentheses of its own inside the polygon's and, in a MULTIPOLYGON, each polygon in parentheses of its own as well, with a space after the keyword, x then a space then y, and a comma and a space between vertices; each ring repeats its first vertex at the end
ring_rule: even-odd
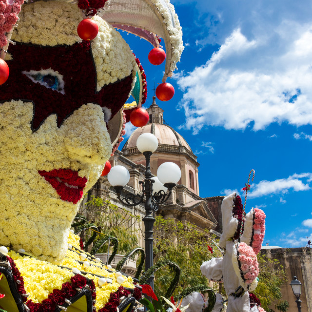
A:
POLYGON ((264 33, 253 36, 237 27, 205 64, 179 75, 179 105, 194 134, 207 125, 312 124, 312 23, 285 18, 273 29, 261 26, 264 33))

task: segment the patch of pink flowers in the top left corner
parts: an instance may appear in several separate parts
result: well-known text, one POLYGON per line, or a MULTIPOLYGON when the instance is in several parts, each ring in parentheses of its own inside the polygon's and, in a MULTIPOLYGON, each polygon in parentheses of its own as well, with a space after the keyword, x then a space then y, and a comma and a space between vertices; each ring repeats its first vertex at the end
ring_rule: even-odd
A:
POLYGON ((13 4, 9 4, 5 0, 0 1, 0 47, 4 47, 8 43, 5 34, 12 30, 13 25, 16 24, 20 7, 24 0, 15 0, 13 4))

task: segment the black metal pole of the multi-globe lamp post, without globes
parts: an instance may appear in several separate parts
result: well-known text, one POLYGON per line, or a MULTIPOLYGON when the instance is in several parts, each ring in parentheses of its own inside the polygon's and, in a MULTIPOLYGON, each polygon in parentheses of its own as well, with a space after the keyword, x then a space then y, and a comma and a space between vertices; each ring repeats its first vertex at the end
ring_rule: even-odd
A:
MULTIPOLYGON (((146 170, 145 170, 145 216, 143 218, 144 227, 145 227, 145 271, 148 270, 153 266, 153 226, 155 222, 155 218, 153 215, 153 203, 151 200, 151 187, 150 183, 147 181, 152 177, 151 168, 150 168, 150 158, 152 152, 144 152, 143 155, 145 156, 146 160, 146 170)), ((147 283, 152 287, 154 290, 154 275, 152 275, 148 280, 147 283)))

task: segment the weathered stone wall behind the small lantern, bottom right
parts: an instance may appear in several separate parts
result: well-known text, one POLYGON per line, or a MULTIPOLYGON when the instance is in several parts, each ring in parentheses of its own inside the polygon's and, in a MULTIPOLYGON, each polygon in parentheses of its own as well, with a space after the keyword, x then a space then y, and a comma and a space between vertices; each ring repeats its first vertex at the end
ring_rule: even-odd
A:
MULTIPOLYGON (((308 247, 262 249, 268 258, 277 259, 287 273, 287 282, 281 286, 282 299, 289 302, 289 312, 297 312, 296 297, 290 283, 293 276, 303 284, 301 312, 312 312, 312 251, 308 247)), ((274 310, 274 307, 271 307, 274 310)), ((275 310, 274 310, 275 311, 275 310)))

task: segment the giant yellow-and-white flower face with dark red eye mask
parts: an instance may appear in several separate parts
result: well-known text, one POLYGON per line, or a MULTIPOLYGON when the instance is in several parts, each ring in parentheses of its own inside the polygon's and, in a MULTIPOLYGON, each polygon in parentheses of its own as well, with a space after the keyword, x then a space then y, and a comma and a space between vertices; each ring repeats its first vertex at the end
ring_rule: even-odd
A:
POLYGON ((66 254, 79 202, 112 152, 105 120, 136 73, 129 46, 98 17, 91 49, 79 45, 81 19, 75 3, 24 4, 0 87, 0 245, 50 262, 66 254))

